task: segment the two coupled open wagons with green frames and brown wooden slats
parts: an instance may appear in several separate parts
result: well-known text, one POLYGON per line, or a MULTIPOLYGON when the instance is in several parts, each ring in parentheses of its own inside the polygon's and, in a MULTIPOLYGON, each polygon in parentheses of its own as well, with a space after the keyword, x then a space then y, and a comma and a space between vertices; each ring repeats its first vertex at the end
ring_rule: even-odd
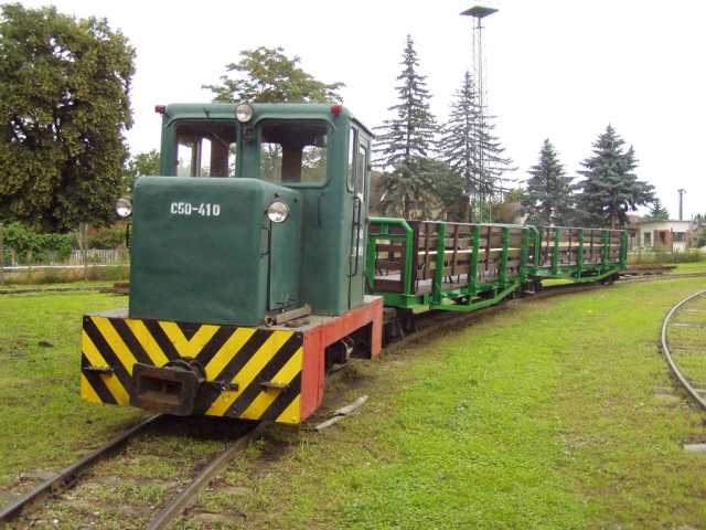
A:
POLYGON ((385 305, 469 311, 542 279, 611 278, 627 266, 624 231, 373 218, 368 289, 385 305))

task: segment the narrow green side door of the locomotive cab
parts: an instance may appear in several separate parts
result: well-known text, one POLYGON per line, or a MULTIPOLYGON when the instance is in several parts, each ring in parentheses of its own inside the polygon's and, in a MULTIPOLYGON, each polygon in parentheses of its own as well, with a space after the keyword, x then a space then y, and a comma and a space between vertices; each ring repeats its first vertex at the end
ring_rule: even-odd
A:
POLYGON ((351 128, 349 190, 352 191, 351 248, 349 255, 349 308, 360 306, 365 293, 365 243, 370 201, 371 140, 360 128, 351 128))

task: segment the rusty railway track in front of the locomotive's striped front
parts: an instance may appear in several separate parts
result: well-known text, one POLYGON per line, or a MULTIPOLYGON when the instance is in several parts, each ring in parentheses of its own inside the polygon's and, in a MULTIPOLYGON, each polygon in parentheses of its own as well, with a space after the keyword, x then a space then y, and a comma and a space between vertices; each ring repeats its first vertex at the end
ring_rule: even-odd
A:
MULTIPOLYGON (((38 521, 41 523, 42 521, 46 522, 46 520, 52 520, 54 518, 52 513, 56 512, 56 507, 50 507, 46 505, 61 505, 63 500, 66 500, 64 494, 66 494, 69 489, 82 484, 83 481, 92 480, 92 470, 99 463, 106 462, 116 468, 121 466, 129 466, 129 463, 126 463, 125 459, 120 457, 120 452, 125 452, 132 441, 136 441, 136 438, 138 438, 140 435, 146 435, 146 433, 151 430, 159 430, 160 427, 169 428, 170 422, 173 424, 184 421, 189 420, 157 415, 149 417, 138 425, 125 431, 104 446, 90 452, 88 455, 61 470, 53 478, 45 480, 11 505, 1 509, 0 527, 4 528, 4 526, 10 526, 10 528, 12 528, 11 524, 17 523, 18 528, 25 528, 28 524, 34 526, 34 523, 36 523, 38 521), (42 515, 42 510, 49 510, 50 515, 42 515), (40 512, 39 516, 35 516, 34 511, 40 512)), ((196 420, 195 423, 203 422, 196 420)), ((221 423, 223 426, 223 422, 221 423)), ((148 530, 162 530, 169 528, 169 524, 180 517, 182 511, 193 501, 199 491, 207 486, 208 483, 212 481, 215 476, 221 470, 223 470, 225 466, 238 453, 240 453, 252 439, 258 436, 265 430, 268 423, 237 422, 231 423, 229 425, 234 428, 229 428, 229 432, 225 433, 225 437, 229 438, 226 441, 225 448, 213 452, 214 454, 208 457, 207 462, 194 465, 194 473, 189 478, 189 480, 185 483, 179 483, 176 486, 172 487, 173 491, 165 495, 168 500, 163 504, 162 508, 157 512, 157 515, 154 515, 154 517, 152 517, 147 522, 146 526, 133 520, 131 521, 132 524, 130 524, 129 527, 126 526, 125 528, 146 528, 148 530), (135 523, 137 523, 137 526, 135 526, 135 523)), ((174 425, 171 426, 174 427, 174 425)), ((197 432, 201 432, 202 428, 202 426, 196 425, 197 432)), ((179 425, 176 426, 176 430, 182 431, 179 425)), ((181 434, 183 435, 183 433, 181 434)), ((221 432, 221 436, 216 436, 216 438, 222 437, 224 437, 223 432, 221 432)), ((159 439, 160 436, 158 433, 158 436, 154 441, 151 441, 151 443, 159 443, 159 439)), ((116 476, 120 476, 120 474, 116 473, 116 476)), ((69 499, 74 504, 76 501, 75 497, 76 496, 69 499)), ((150 511, 153 512, 153 510, 150 511)), ((95 521, 82 523, 81 521, 74 519, 76 513, 72 512, 71 510, 67 513, 71 513, 69 522, 72 524, 72 528, 74 528, 75 526, 87 528, 88 526, 93 526, 95 523, 95 521)), ((94 516, 98 513, 98 511, 93 512, 94 516)), ((63 517, 65 518, 66 516, 63 517)), ((56 526, 58 522, 60 520, 56 519, 53 524, 56 526)), ((64 519, 61 522, 66 521, 64 519)))

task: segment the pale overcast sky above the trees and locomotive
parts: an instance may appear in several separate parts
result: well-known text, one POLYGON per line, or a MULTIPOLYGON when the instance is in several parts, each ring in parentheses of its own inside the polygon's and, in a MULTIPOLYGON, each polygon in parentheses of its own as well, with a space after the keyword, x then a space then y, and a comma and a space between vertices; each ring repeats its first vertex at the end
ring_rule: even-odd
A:
MULTIPOLYGON (((44 6, 46 1, 24 1, 44 6)), ((132 153, 159 148, 156 104, 206 102, 238 52, 284 46, 325 82, 341 81, 344 104, 368 126, 395 104, 395 77, 413 35, 439 121, 471 62, 471 28, 459 13, 475 2, 421 1, 78 1, 52 2, 98 15, 137 49, 132 153)), ((569 174, 612 124, 635 148, 639 177, 677 216, 706 212, 706 2, 505 0, 486 19, 488 102, 518 179, 549 138, 569 174)))

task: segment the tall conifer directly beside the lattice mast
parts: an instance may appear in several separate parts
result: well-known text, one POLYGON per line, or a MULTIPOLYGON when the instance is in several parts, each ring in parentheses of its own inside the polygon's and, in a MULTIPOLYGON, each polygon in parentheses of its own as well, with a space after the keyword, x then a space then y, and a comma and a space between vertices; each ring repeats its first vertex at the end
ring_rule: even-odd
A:
POLYGON ((492 117, 480 112, 473 78, 466 72, 461 88, 451 103, 449 119, 441 128, 439 151, 441 160, 448 163, 463 182, 467 200, 473 202, 471 214, 479 218, 480 204, 486 198, 490 202, 503 184, 503 173, 514 170, 512 159, 504 157, 504 148, 494 136, 492 117), (481 163, 482 148, 482 163, 481 163))

